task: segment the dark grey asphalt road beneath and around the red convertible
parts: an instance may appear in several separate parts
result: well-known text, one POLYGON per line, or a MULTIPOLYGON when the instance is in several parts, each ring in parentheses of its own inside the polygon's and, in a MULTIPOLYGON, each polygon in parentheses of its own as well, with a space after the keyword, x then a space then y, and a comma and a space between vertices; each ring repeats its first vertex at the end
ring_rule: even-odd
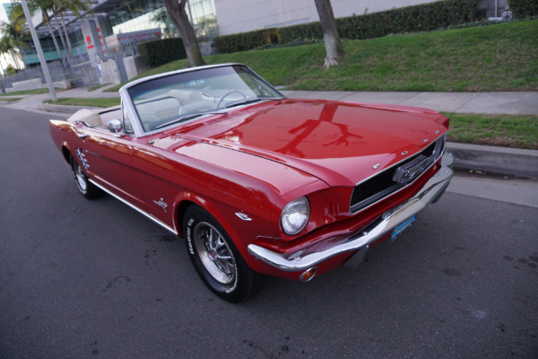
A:
POLYGON ((538 357, 538 208, 447 193, 357 270, 230 304, 183 240, 78 194, 48 118, 0 107, 0 358, 538 357))

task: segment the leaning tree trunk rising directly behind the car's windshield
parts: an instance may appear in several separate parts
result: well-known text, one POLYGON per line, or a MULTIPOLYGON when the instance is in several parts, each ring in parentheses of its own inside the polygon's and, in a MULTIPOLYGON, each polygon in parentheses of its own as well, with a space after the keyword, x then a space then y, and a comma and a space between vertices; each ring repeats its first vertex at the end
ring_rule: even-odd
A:
POLYGON ((187 52, 188 66, 203 66, 205 65, 204 58, 200 53, 200 48, 198 48, 193 25, 188 20, 187 11, 185 10, 186 4, 187 0, 164 0, 166 12, 174 25, 176 25, 179 36, 183 40, 183 46, 185 47, 185 52, 187 52))

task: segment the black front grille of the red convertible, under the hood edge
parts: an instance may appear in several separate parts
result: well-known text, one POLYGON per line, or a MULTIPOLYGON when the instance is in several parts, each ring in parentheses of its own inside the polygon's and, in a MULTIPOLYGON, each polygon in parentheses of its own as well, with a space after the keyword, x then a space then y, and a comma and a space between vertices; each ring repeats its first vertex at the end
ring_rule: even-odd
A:
POLYGON ((376 203, 380 199, 394 193, 400 188, 404 188, 405 186, 416 180, 416 178, 420 177, 421 174, 419 174, 415 179, 407 183, 400 183, 393 180, 395 177, 395 171, 399 167, 402 167, 405 164, 412 162, 419 156, 425 156, 428 158, 428 165, 421 173, 430 168, 430 165, 433 164, 433 162, 435 162, 435 160, 437 160, 442 154, 444 141, 444 136, 441 136, 438 141, 430 144, 428 147, 422 150, 421 153, 416 153, 405 161, 399 162, 393 167, 388 168, 385 171, 377 174, 376 176, 363 182, 360 182, 357 186, 355 186, 355 188, 353 189, 353 193, 351 194, 351 214, 359 212, 361 209, 366 208, 373 203, 376 203))

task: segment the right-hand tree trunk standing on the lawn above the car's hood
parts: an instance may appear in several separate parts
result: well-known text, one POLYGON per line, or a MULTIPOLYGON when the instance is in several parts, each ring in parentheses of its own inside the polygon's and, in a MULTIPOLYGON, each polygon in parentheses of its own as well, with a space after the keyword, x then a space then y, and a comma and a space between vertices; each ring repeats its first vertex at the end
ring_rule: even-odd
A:
POLYGON ((334 20, 333 7, 330 0, 314 0, 316 3, 323 39, 325 40, 325 67, 337 66, 343 60, 343 47, 338 27, 334 20))

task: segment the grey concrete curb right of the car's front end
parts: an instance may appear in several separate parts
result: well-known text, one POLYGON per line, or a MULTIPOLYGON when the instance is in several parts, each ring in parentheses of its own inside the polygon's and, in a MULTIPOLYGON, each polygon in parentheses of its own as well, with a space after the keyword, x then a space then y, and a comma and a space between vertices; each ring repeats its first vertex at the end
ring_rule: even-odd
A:
POLYGON ((447 143, 454 168, 538 180, 538 151, 478 144, 447 143))

